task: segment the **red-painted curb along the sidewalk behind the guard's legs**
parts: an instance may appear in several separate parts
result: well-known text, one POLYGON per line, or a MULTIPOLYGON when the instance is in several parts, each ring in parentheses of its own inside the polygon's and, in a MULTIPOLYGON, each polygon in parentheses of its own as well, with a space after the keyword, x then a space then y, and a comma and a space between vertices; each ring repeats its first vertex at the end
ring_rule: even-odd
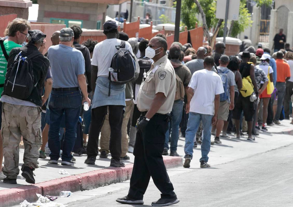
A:
MULTIPOLYGON (((182 166, 181 157, 163 156, 166 168, 182 166)), ((18 205, 27 200, 34 202, 38 198, 36 193, 42 195, 58 196, 60 191, 83 191, 109 185, 112 183, 129 180, 132 173, 133 164, 126 165, 125 168, 107 168, 94 170, 88 173, 71 175, 68 177, 40 182, 34 185, 25 185, 0 191, 0 207, 18 205)))

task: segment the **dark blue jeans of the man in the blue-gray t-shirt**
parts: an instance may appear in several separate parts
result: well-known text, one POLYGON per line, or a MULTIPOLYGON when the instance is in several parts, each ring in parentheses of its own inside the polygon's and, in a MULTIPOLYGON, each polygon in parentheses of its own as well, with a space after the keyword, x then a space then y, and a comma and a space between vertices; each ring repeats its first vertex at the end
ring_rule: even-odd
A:
POLYGON ((52 91, 49 101, 50 129, 48 146, 51 150, 50 159, 58 160, 60 157, 59 129, 65 112, 65 137, 62 149, 62 161, 70 161, 70 154, 76 139, 76 125, 79 118, 81 106, 81 94, 79 91, 62 92, 52 91))

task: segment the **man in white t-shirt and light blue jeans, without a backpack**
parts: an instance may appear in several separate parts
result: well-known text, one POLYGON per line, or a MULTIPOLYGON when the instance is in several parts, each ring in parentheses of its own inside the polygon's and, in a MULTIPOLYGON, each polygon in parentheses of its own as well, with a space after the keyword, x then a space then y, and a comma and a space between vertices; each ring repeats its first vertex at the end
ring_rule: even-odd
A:
POLYGON ((211 145, 211 128, 216 125, 220 105, 220 94, 224 93, 221 77, 212 71, 214 58, 207 56, 203 70, 193 73, 188 85, 186 113, 189 113, 185 132, 185 162, 183 167, 189 168, 193 155, 193 140, 202 121, 203 139, 201 144, 202 157, 200 167, 210 167, 207 163, 211 145))

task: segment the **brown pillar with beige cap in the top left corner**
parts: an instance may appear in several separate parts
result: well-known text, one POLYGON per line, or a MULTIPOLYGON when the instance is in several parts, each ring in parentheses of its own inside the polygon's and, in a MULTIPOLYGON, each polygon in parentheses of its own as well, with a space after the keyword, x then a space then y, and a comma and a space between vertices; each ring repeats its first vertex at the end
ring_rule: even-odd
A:
POLYGON ((28 19, 28 7, 32 6, 30 0, 0 0, 0 14, 17 14, 17 17, 28 19))

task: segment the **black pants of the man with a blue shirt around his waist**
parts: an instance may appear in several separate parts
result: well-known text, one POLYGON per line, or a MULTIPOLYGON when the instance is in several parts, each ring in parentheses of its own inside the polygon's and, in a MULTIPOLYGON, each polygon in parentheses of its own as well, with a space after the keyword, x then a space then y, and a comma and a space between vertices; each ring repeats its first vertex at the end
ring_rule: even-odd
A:
POLYGON ((96 157, 98 155, 99 135, 104 124, 107 108, 109 107, 109 124, 111 129, 109 150, 111 157, 120 159, 121 156, 121 127, 123 121, 124 106, 109 105, 92 108, 91 126, 88 134, 88 146, 86 153, 88 157, 96 157))

